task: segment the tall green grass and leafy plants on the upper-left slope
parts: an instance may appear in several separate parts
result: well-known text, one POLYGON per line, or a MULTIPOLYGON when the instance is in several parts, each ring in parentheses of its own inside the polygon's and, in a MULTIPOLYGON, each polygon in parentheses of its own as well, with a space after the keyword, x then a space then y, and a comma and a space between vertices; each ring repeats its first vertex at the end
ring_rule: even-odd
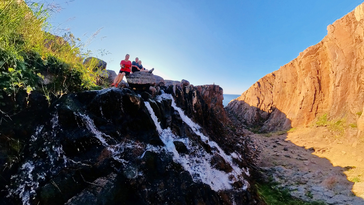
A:
POLYGON ((99 89, 104 84, 101 71, 94 70, 95 59, 83 65, 91 54, 87 46, 97 32, 86 43, 71 32, 52 35, 54 27, 48 20, 56 9, 28 1, 0 1, 0 106, 5 106, 5 97, 12 98, 15 108, 19 106, 19 92, 29 96, 39 90, 51 101, 64 93, 99 89), (52 80, 42 87, 46 75, 52 80))

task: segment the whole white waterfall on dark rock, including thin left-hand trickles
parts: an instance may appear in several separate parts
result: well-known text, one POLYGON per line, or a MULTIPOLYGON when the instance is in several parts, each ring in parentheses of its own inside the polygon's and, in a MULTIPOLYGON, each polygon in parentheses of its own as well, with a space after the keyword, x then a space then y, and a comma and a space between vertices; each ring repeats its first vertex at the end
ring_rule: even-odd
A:
MULTIPOLYGON (((123 159, 122 155, 126 149, 140 149, 144 150, 143 154, 140 158, 143 158, 146 151, 150 150, 153 152, 163 152, 167 151, 173 156, 173 160, 182 165, 182 167, 188 171, 195 182, 203 182, 211 187, 212 190, 226 190, 232 189, 232 183, 236 181, 243 182, 242 189, 245 190, 249 184, 248 182, 242 178, 242 173, 244 172, 246 175, 249 175, 248 170, 240 169, 237 165, 235 165, 232 161, 232 156, 225 154, 225 152, 215 143, 214 141, 209 140, 209 138, 203 135, 199 130, 201 127, 194 123, 189 117, 185 115, 181 108, 178 108, 174 102, 174 99, 171 95, 162 94, 158 97, 159 100, 164 99, 171 99, 172 100, 172 107, 178 111, 179 115, 181 116, 184 123, 186 123, 195 134, 201 137, 201 140, 210 145, 211 148, 218 151, 212 151, 213 154, 220 155, 227 163, 232 166, 233 170, 231 173, 226 173, 225 171, 220 171, 215 169, 211 166, 211 158, 213 158, 213 154, 207 153, 201 146, 196 146, 196 143, 191 142, 189 138, 181 138, 180 136, 176 136, 172 133, 170 128, 162 129, 160 123, 158 122, 157 117, 155 116, 153 109, 150 107, 149 102, 145 102, 145 105, 150 113, 151 118, 153 119, 157 131, 159 133, 159 137, 161 138, 162 142, 165 144, 164 147, 155 147, 150 144, 143 144, 143 143, 136 143, 134 141, 109 145, 107 140, 104 137, 110 138, 110 136, 100 132, 95 124, 94 121, 88 116, 81 113, 74 113, 75 116, 80 116, 84 124, 86 125, 87 129, 94 134, 95 138, 97 138, 100 142, 100 145, 107 148, 107 150, 111 151, 112 157, 122 163, 126 169, 130 169, 128 167, 128 161, 123 159), (189 154, 182 154, 180 155, 177 150, 175 149, 173 141, 180 141, 183 142, 187 149, 189 150, 189 154)), ((58 124, 58 115, 55 113, 54 118, 51 120, 52 128, 50 135, 56 137, 55 128, 59 126, 58 124)), ((43 135, 48 135, 48 132, 43 131, 43 125, 37 127, 36 133, 31 137, 32 142, 37 140, 43 140, 39 138, 43 135)), ((29 205, 29 200, 31 197, 34 197, 35 190, 39 186, 39 180, 44 180, 47 174, 55 174, 56 167, 54 167, 55 160, 62 160, 63 159, 63 166, 66 167, 68 163, 74 164, 83 164, 82 162, 75 162, 72 159, 66 157, 62 145, 55 146, 52 145, 50 148, 47 144, 44 144, 45 147, 42 151, 47 152, 49 163, 51 163, 50 170, 41 171, 41 173, 33 173, 35 167, 42 166, 41 164, 37 163, 36 154, 34 154, 34 160, 28 160, 21 166, 21 174, 13 175, 12 178, 17 178, 19 186, 16 189, 9 190, 10 194, 18 194, 23 202, 23 205, 29 205), (19 178, 21 177, 21 178, 19 178)), ((232 154, 234 158, 238 158, 236 153, 232 154)), ((83 164, 85 165, 85 164, 83 164)), ((90 166, 90 165, 87 165, 90 166)), ((131 172, 132 173, 132 172, 131 172)), ((130 178, 135 178, 137 175, 141 175, 138 170, 135 170, 135 174, 130 176, 130 178)))

